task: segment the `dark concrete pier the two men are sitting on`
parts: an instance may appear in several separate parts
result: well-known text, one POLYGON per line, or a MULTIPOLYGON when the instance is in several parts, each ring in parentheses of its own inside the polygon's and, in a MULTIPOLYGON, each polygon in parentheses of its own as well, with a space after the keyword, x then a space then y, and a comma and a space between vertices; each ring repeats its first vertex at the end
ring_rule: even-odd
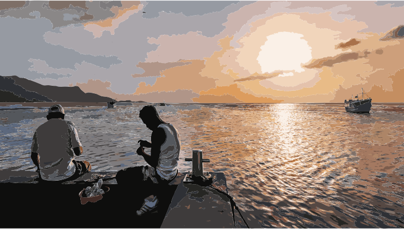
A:
MULTIPOLYGON (((34 171, 0 170, 2 217, 5 227, 135 227, 135 228, 234 228, 229 199, 209 187, 183 184, 185 173, 167 188, 158 210, 138 217, 139 201, 130 191, 121 190, 117 172, 92 171, 77 180, 53 187, 38 182, 34 171), (96 203, 82 205, 79 192, 95 184, 92 174, 105 175, 103 186, 110 191, 96 203)), ((223 173, 211 173, 214 185, 227 192, 223 173)))

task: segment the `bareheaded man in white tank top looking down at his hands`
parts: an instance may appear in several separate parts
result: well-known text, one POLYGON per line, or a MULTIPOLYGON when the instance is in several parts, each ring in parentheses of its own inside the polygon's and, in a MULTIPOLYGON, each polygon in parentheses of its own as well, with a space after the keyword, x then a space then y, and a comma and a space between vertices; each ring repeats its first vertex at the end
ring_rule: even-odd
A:
POLYGON ((149 165, 121 169, 115 178, 118 185, 131 188, 138 196, 149 196, 150 193, 155 195, 153 201, 145 201, 140 210, 136 211, 140 216, 157 207, 158 192, 163 195, 163 185, 167 185, 177 176, 181 142, 177 129, 161 120, 153 105, 144 106, 139 112, 139 118, 153 131, 151 143, 139 140, 137 143, 140 143, 140 147, 136 150, 149 165), (144 152, 144 147, 151 148, 150 155, 144 152))

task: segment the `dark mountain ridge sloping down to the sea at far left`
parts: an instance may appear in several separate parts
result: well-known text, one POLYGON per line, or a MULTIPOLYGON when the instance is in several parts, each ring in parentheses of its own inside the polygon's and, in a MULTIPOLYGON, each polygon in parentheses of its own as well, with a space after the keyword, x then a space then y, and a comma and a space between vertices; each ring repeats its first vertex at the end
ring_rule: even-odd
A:
POLYGON ((18 76, 0 76, 0 102, 108 102, 111 98, 84 93, 78 86, 42 85, 18 76))

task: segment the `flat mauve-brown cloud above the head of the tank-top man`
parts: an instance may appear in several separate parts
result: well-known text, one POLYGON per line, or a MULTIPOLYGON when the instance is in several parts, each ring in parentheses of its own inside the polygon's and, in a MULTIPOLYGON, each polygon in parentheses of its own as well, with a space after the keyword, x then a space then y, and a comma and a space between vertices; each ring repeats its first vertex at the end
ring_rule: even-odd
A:
POLYGON ((189 64, 192 64, 192 62, 181 62, 181 60, 179 60, 178 62, 169 62, 169 63, 139 62, 139 64, 137 64, 136 67, 143 69, 144 73, 142 73, 142 74, 135 73, 135 74, 132 74, 131 76, 133 78, 161 76, 161 72, 166 69, 171 69, 174 67, 184 66, 184 65, 189 65, 189 64))

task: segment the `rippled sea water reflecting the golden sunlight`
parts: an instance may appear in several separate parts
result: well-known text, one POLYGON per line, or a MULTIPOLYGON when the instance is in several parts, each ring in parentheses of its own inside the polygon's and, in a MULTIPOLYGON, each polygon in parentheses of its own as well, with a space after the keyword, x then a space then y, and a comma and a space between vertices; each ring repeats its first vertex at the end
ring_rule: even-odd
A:
MULTIPOLYGON (((144 165, 138 119, 145 104, 65 108, 95 171, 144 165)), ((404 228, 404 104, 348 113, 341 104, 156 106, 181 137, 180 170, 192 149, 223 172, 250 227, 404 228)), ((34 170, 30 146, 47 109, 0 110, 0 168, 34 170)), ((146 151, 147 152, 147 151, 146 151)), ((243 223, 237 222, 242 227, 243 223)))

